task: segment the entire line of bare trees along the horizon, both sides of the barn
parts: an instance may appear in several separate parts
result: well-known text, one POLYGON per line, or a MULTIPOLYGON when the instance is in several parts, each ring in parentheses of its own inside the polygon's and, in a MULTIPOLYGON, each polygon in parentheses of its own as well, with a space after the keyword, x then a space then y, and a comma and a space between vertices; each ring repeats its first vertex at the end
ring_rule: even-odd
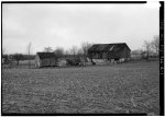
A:
MULTIPOLYGON (((52 47, 44 47, 43 51, 44 52, 54 52, 58 58, 61 57, 66 57, 66 56, 74 56, 74 57, 85 57, 87 58, 88 56, 88 49, 91 47, 92 44, 89 43, 82 43, 80 47, 73 46, 70 49, 65 50, 63 47, 56 47, 53 49, 52 47)), ((2 58, 6 61, 15 60, 16 63, 19 65, 20 60, 29 60, 29 67, 30 67, 30 60, 33 60, 35 58, 35 55, 31 55, 32 51, 32 43, 29 43, 26 46, 28 54, 13 54, 13 55, 7 55, 6 54, 6 48, 2 47, 2 58)), ((132 54, 145 54, 145 57, 148 58, 151 55, 156 55, 158 57, 158 51, 160 51, 160 36, 155 35, 153 39, 150 40, 144 40, 144 44, 141 49, 132 50, 132 54)))

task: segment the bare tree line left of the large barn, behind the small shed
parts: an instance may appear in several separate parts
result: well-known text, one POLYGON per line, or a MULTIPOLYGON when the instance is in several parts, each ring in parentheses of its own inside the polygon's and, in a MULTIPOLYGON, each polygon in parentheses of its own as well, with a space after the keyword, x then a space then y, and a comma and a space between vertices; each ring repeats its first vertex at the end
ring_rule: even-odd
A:
MULTIPOLYGON (((56 47, 53 49, 52 47, 44 47, 43 52, 54 52, 56 57, 66 57, 66 56, 81 56, 81 57, 87 57, 88 49, 91 47, 91 44, 89 43, 82 43, 81 46, 78 48, 77 46, 73 46, 70 49, 65 50, 63 47, 56 47)), ((2 58, 4 59, 4 62, 8 63, 10 61, 15 60, 16 65, 19 66, 20 60, 29 60, 29 67, 31 65, 30 60, 34 60, 35 55, 31 54, 32 49, 32 43, 29 43, 26 46, 28 54, 13 54, 13 55, 7 55, 6 54, 6 48, 2 48, 2 58)))

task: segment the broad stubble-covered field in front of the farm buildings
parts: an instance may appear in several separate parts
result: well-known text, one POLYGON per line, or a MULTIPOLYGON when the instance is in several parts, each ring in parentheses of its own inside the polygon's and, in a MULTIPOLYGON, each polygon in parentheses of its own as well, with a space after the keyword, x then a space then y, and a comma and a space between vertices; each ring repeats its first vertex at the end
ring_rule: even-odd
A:
POLYGON ((2 113, 158 115, 158 62, 4 69, 2 113))

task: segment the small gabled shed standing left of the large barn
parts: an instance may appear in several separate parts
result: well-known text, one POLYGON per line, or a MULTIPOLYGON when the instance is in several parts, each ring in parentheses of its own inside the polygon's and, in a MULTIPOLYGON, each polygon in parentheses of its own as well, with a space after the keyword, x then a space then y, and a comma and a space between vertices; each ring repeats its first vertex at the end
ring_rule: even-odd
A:
POLYGON ((36 52, 35 67, 55 67, 57 66, 57 57, 54 52, 36 52))

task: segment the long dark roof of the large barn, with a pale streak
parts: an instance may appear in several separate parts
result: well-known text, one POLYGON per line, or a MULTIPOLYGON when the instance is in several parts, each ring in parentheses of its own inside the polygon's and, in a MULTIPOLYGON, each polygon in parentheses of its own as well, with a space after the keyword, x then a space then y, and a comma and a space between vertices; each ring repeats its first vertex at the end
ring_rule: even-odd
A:
MULTIPOLYGON (((119 51, 122 50, 124 47, 128 47, 125 43, 116 43, 116 44, 95 44, 92 45, 88 51, 119 51)), ((129 48, 129 47, 128 47, 129 48)), ((130 48, 129 48, 130 49, 130 48)), ((131 50, 131 49, 130 49, 131 50)))

